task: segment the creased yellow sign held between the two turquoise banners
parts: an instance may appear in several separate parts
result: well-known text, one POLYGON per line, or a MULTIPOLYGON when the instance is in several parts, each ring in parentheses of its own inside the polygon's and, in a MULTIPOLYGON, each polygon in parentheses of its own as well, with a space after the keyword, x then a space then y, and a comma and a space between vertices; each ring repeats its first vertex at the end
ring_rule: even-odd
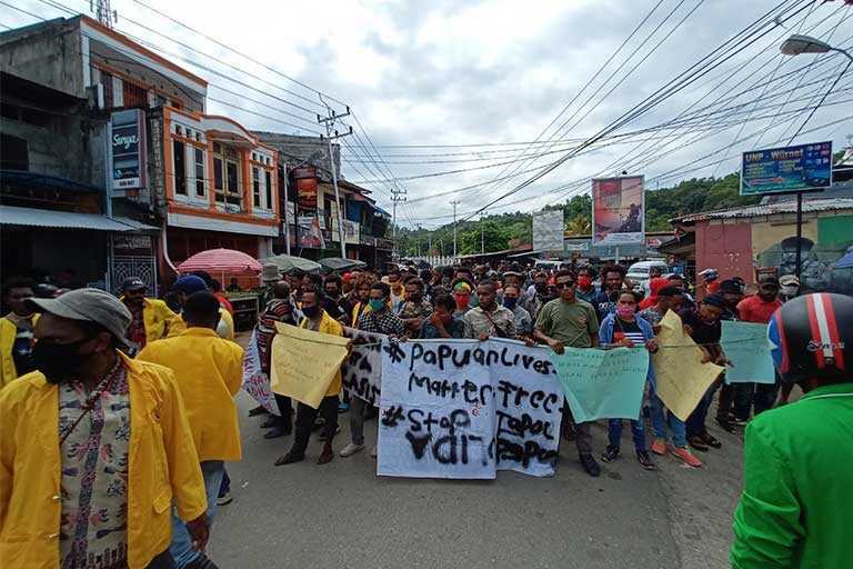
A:
POLYGON ((658 345, 658 353, 652 355, 658 395, 675 417, 686 421, 725 368, 702 362, 704 352, 684 332, 681 317, 672 310, 668 310, 661 320, 658 345))

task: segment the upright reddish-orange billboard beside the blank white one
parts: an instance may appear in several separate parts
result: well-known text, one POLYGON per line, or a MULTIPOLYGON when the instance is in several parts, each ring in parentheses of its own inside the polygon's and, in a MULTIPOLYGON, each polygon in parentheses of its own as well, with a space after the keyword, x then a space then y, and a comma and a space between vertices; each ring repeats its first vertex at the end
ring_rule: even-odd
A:
POLYGON ((642 176, 592 180, 592 244, 645 242, 645 192, 642 176))

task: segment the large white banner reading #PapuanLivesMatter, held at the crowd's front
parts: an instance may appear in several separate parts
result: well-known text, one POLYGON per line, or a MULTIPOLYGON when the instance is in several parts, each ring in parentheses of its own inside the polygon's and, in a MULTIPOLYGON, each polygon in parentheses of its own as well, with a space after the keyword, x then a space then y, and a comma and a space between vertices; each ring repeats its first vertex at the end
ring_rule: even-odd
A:
POLYGON ((382 352, 378 475, 553 476, 563 393, 545 350, 387 339, 382 352))

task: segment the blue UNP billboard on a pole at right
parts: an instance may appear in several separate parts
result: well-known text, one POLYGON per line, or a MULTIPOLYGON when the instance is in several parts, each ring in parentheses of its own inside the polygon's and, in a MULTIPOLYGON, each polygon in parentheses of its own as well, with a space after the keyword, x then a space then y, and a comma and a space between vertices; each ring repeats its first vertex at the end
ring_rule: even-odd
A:
POLYGON ((741 196, 822 190, 832 184, 832 142, 744 152, 741 196))

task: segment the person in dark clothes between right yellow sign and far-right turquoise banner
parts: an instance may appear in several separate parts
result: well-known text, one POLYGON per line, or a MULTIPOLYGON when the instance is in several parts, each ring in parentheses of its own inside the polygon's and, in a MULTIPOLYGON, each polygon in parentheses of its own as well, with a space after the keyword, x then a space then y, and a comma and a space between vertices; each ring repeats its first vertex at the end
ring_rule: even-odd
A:
MULTIPOLYGON (((720 316, 725 308, 725 300, 720 295, 709 295, 699 305, 695 310, 682 309, 681 322, 684 326, 684 332, 693 338, 705 355, 705 361, 713 361, 719 366, 730 363, 725 359, 723 348, 720 346, 722 327, 720 316)), ((714 392, 720 387, 721 380, 714 381, 708 391, 699 401, 699 406, 693 410, 686 420, 688 442, 696 450, 706 451, 709 447, 719 449, 722 443, 714 436, 708 432, 705 418, 708 409, 713 401, 714 392)))

